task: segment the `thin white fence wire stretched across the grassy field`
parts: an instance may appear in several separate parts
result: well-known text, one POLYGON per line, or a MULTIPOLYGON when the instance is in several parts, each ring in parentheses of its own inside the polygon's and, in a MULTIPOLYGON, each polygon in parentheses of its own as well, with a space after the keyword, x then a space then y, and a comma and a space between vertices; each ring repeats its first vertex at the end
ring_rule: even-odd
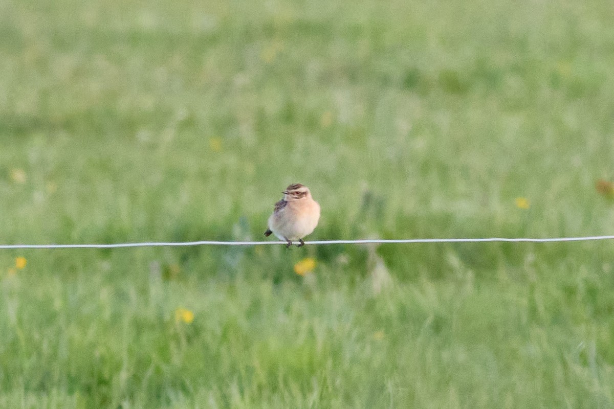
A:
MULTIPOLYGON (((614 235, 594 235, 586 237, 550 237, 531 239, 524 237, 486 237, 476 239, 372 239, 372 240, 314 240, 305 245, 329 244, 413 244, 413 243, 484 243, 484 242, 526 242, 526 243, 556 243, 556 242, 588 242, 593 240, 612 240, 614 235)), ((286 242, 218 242, 202 240, 198 242, 143 242, 143 243, 110 243, 110 244, 6 244, 0 245, 0 250, 28 248, 126 248, 126 247, 186 247, 186 246, 261 246, 286 245, 286 242)))

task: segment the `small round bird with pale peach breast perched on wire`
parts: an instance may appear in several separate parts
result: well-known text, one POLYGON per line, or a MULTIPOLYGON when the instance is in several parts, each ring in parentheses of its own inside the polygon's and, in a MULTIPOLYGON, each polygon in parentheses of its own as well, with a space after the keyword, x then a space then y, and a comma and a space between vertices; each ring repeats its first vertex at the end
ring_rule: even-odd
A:
POLYGON ((298 240, 297 247, 301 247, 305 245, 303 237, 311 234, 320 220, 320 205, 311 197, 309 188, 300 183, 288 186, 282 193, 284 198, 275 204, 265 236, 273 233, 279 240, 286 240, 286 248, 298 240))

